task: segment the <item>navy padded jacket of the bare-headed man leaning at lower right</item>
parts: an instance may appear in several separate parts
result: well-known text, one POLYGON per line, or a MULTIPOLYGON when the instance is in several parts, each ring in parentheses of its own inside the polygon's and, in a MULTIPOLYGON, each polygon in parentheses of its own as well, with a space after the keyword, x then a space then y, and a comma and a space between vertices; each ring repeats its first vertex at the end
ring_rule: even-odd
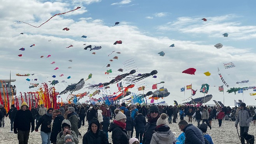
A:
POLYGON ((205 144, 202 131, 193 124, 188 124, 183 131, 186 135, 184 144, 205 144))

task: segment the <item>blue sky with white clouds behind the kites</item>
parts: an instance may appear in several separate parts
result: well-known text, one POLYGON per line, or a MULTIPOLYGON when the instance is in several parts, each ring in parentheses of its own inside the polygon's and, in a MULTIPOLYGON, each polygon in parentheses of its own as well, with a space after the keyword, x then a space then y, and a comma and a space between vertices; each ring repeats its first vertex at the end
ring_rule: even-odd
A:
MULTIPOLYGON (((191 90, 181 92, 182 87, 192 84, 198 90, 193 98, 203 97, 199 90, 202 84, 209 84, 208 94, 212 100, 221 101, 225 105, 234 106, 234 100, 244 100, 248 105, 256 105, 255 93, 252 89, 243 94, 226 92, 230 88, 256 86, 254 63, 256 62, 256 10, 254 0, 246 2, 238 0, 191 2, 189 0, 0 0, 0 79, 16 79, 19 92, 34 92, 38 88, 28 88, 30 83, 58 80, 54 87, 63 91, 68 85, 77 83, 81 78, 92 78, 85 84, 109 82, 112 78, 128 73, 125 61, 130 60, 137 73, 150 73, 157 70, 157 78, 149 76, 130 92, 141 94, 137 88, 145 86, 144 93, 152 90, 152 85, 165 87, 170 92, 165 97, 169 105, 190 101, 191 90), (77 7, 80 9, 66 14, 77 7), (50 17, 52 19, 47 21, 50 17), (202 21, 206 18, 207 21, 202 21), (47 21, 39 28, 40 24, 47 21), (116 22, 118 25, 113 26, 116 22), (62 30, 69 28, 69 31, 62 30), (19 35, 24 33, 23 35, 19 35), (223 37, 228 33, 228 37, 223 37), (18 35, 18 36, 17 36, 18 35), (87 38, 81 38, 86 35, 87 38), (14 37, 15 36, 15 37, 14 37), (80 39, 79 39, 80 38, 80 39), (77 40, 79 39, 79 40, 77 40), (76 41, 75 41, 76 40, 76 41), (113 45, 117 40, 122 44, 113 45), (73 42, 75 41, 75 42, 73 42), (221 49, 214 45, 222 43, 221 49), (35 46, 30 47, 30 45, 35 46), (84 45, 86 44, 86 45, 84 45), (169 47, 175 44, 175 47, 169 47), (70 45, 74 47, 66 48, 70 45), (100 50, 84 50, 87 45, 101 46, 100 50), (25 48, 25 51, 19 50, 25 48), (121 52, 121 54, 113 53, 121 52), (165 52, 159 56, 158 52, 165 52), (96 54, 92 54, 95 52, 96 54), (22 57, 18 55, 22 54, 22 57), (111 54, 110 56, 108 56, 111 54), (48 57, 51 55, 51 57, 48 57), (40 56, 44 56, 40 58, 40 56), (118 56, 118 59, 112 59, 118 56), (72 62, 68 61, 72 59, 72 62), (110 62, 109 60, 113 61, 110 62), (54 64, 51 64, 52 62, 54 64), (233 62, 235 67, 224 68, 224 64, 233 62), (110 64, 110 67, 106 67, 110 64), (59 69, 54 70, 56 67, 59 69), (72 67, 72 68, 68 68, 72 67), (124 69, 123 72, 117 69, 124 69), (182 73, 185 69, 195 68, 195 75, 182 73), (219 72, 218 72, 219 68, 219 72), (112 73, 105 75, 108 69, 112 73), (210 76, 203 73, 209 71, 210 76), (34 74, 33 76, 16 76, 16 74, 34 74), (60 77, 63 74, 64 76, 60 77), (218 87, 223 85, 222 75, 229 87, 223 92, 218 87), (56 78, 52 76, 56 75, 56 78), (67 79, 71 76, 70 79, 67 79), (27 82, 26 78, 38 81, 27 82), (65 83, 61 83, 65 80, 65 83), (248 83, 239 83, 249 80, 248 83), (223 102, 224 97, 224 102, 223 102)), ((122 81, 125 83, 125 81, 122 81)), ((127 86, 128 84, 124 84, 127 86)), ((109 85, 109 93, 117 92, 116 84, 109 85)), ((85 86, 86 87, 86 86, 85 86)), ((95 90, 82 88, 73 94, 95 90)), ((63 100, 68 96, 61 95, 63 100)), ((99 98, 100 95, 95 95, 99 98)), ((127 97, 128 98, 128 97, 127 97)), ((84 97, 79 102, 89 100, 84 97)), ((164 101, 158 99, 158 102, 164 101)), ((214 104, 213 101, 207 104, 214 104)), ((148 100, 150 101, 150 100, 148 100)), ((155 101, 156 102, 156 101, 155 101)))

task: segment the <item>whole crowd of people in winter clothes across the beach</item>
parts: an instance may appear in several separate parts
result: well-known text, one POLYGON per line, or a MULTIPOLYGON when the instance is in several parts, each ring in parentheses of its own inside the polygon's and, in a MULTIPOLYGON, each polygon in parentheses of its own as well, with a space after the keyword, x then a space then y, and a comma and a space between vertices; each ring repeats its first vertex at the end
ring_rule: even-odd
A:
MULTIPOLYGON (((113 144, 175 144, 174 133, 168 124, 177 123, 186 135, 185 144, 213 144, 207 128, 212 128, 212 120, 218 120, 221 128, 222 120, 235 121, 235 127, 240 126, 240 135, 249 131, 253 120, 256 121, 256 108, 247 109, 245 103, 240 107, 207 107, 207 106, 151 106, 130 105, 124 102, 120 105, 102 104, 68 104, 59 109, 46 109, 44 104, 37 108, 23 102, 21 109, 11 105, 7 111, 0 105, 0 127, 4 127, 4 117, 11 120, 11 131, 18 134, 19 144, 27 144, 30 131, 39 131, 42 144, 109 144, 108 133, 112 133, 113 144), (188 116, 188 121, 184 117, 188 116), (146 120, 147 119, 147 120, 146 120), (197 121, 197 127, 192 124, 197 121), (88 121, 88 130, 82 136, 79 128, 88 121), (110 122, 112 121, 112 122, 110 122), (202 123, 200 123, 202 121, 202 123), (135 128, 135 135, 133 130, 135 128)), ((244 142, 241 136, 241 142, 244 142)))

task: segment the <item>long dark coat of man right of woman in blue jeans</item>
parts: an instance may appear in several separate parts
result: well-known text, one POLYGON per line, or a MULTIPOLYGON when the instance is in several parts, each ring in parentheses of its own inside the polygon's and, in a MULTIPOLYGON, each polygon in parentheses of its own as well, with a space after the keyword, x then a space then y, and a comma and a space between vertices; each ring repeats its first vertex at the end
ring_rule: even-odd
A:
POLYGON ((51 142, 56 142, 57 141, 57 135, 59 132, 61 132, 61 123, 64 120, 64 116, 59 114, 57 115, 54 120, 53 120, 53 127, 51 130, 51 142))

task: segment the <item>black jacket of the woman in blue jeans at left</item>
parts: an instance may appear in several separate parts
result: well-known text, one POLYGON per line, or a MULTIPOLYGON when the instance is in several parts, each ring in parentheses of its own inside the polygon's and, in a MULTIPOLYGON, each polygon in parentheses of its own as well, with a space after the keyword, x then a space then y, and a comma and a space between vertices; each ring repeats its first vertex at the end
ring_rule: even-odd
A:
POLYGON ((48 116, 47 114, 44 114, 43 116, 41 116, 41 118, 39 118, 35 129, 38 130, 39 126, 41 125, 40 131, 45 132, 45 133, 50 133, 51 127, 48 128, 47 126, 51 125, 52 120, 53 120, 52 116, 48 116))

